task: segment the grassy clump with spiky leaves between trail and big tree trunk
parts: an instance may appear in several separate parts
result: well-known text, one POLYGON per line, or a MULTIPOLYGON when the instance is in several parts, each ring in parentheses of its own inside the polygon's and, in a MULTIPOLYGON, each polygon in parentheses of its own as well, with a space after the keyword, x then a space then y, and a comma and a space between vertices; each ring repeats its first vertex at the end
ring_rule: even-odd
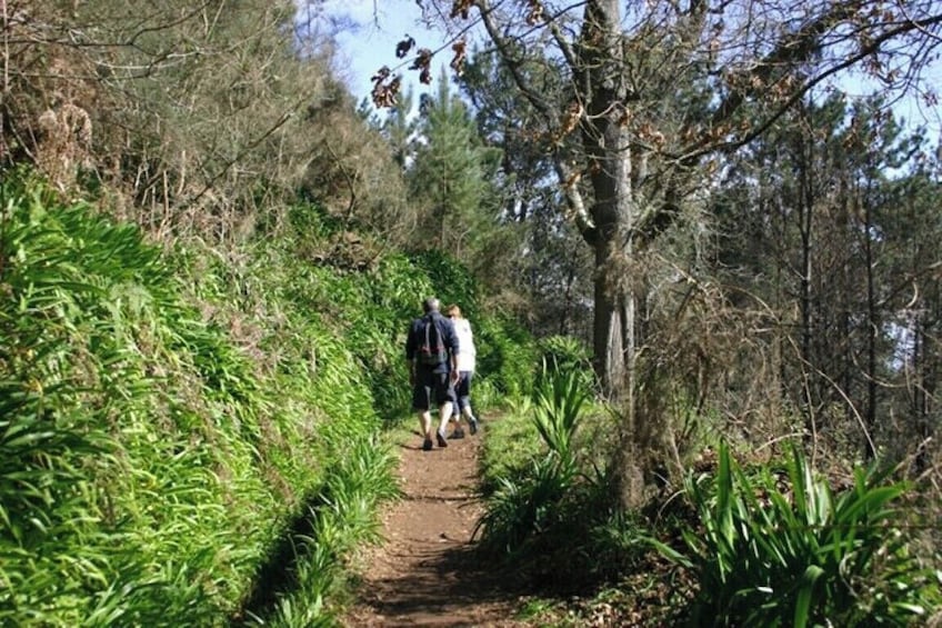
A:
POLYGON ((605 469, 587 457, 587 423, 605 420, 592 410, 583 373, 544 362, 532 398, 488 428, 480 549, 550 591, 587 590, 640 547, 605 469))

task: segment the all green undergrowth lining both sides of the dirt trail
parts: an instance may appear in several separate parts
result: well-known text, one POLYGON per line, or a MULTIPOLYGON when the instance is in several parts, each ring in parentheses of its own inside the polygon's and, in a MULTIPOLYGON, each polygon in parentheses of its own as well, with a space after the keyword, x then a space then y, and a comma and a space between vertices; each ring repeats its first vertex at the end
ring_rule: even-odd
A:
POLYGON ((447 256, 340 249, 312 206, 220 252, 148 243, 26 177, 0 201, 4 626, 334 625, 399 492, 383 430, 412 420, 403 333, 431 293, 475 321, 475 402, 507 412, 480 550, 540 591, 541 621, 939 620, 932 522, 899 474, 835 486, 800 448, 740 465, 711 442, 653 516, 620 509, 584 349, 483 311, 447 256))

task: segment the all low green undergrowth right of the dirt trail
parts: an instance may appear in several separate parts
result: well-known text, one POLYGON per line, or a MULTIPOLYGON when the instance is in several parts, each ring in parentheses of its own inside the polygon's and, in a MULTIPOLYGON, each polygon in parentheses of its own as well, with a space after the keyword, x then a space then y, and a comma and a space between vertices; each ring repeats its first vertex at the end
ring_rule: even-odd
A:
POLYGON ((482 460, 479 548, 533 586, 524 612, 540 625, 942 624, 931 487, 876 465, 828 477, 800 443, 743 463, 720 441, 655 512, 628 515, 605 457, 589 456, 614 425, 579 362, 544 367, 488 426, 482 460))

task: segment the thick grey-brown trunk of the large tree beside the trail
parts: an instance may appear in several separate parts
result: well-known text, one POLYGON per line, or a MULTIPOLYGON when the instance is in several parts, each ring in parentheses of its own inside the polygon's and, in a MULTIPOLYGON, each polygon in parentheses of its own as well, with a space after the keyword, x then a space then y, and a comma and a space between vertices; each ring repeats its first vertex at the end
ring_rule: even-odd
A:
POLYGON ((587 117, 582 146, 593 192, 593 228, 583 230, 595 252, 595 369, 604 395, 622 413, 614 456, 615 490, 621 504, 642 506, 651 457, 651 419, 640 417, 635 392, 638 295, 641 265, 633 263, 637 199, 632 188, 632 137, 621 119, 629 97, 623 71, 618 0, 588 2, 579 46, 587 117))

